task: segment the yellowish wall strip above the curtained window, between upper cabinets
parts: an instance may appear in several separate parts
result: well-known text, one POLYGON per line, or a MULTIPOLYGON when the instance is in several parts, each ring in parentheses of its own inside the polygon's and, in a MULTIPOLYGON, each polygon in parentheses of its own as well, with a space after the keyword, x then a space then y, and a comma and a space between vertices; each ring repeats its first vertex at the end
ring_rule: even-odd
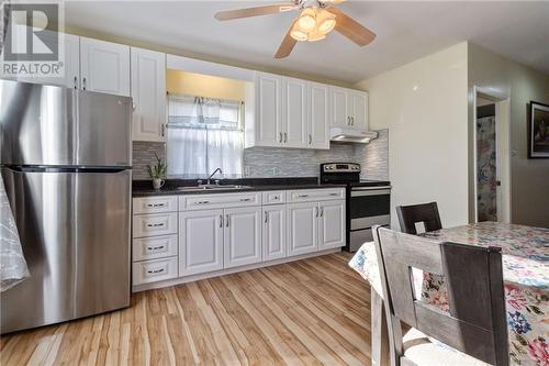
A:
POLYGON ((166 71, 166 89, 171 93, 214 99, 246 99, 245 81, 179 70, 166 71))

